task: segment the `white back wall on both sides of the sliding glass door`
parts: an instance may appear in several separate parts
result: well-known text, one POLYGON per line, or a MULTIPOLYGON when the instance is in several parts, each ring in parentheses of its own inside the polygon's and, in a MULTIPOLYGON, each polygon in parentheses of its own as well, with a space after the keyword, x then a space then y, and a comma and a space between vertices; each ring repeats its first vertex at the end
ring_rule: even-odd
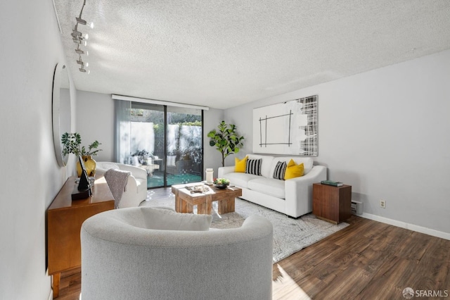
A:
MULTIPOLYGON (((214 168, 214 176, 217 176, 217 169, 221 166, 221 156, 219 151, 210 146, 210 139, 206 135, 217 127, 223 116, 223 110, 214 108, 203 114, 204 165, 205 168, 214 168)), ((103 151, 94 156, 96 161, 115 161, 114 120, 114 101, 110 94, 77 91, 77 132, 82 136, 82 144, 91 144, 96 139, 102 143, 99 148, 103 151)))

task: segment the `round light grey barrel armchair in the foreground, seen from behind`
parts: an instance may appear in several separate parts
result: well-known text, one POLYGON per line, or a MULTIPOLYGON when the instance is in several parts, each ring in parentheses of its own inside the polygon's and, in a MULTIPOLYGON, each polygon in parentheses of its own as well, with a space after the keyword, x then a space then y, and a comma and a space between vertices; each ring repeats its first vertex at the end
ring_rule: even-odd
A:
POLYGON ((87 219, 82 299, 271 299, 270 221, 214 230, 211 218, 136 207, 87 219))

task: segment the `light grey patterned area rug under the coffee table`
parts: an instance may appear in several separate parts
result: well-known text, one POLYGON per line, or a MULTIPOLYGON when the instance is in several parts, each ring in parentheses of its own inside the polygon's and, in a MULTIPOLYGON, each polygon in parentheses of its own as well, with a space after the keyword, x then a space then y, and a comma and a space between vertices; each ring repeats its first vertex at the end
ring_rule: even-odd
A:
MULTIPOLYGON (((160 199, 151 198, 148 194, 147 201, 144 201, 141 206, 175 207, 174 195, 160 199)), ((217 202, 213 202, 212 208, 211 227, 213 228, 240 227, 249 215, 262 215, 268 218, 274 225, 274 263, 349 225, 347 223, 334 225, 316 218, 313 214, 303 215, 297 219, 288 218, 283 213, 238 198, 236 198, 234 213, 219 215, 217 213, 217 202)), ((195 207, 194 213, 196 213, 195 207)))

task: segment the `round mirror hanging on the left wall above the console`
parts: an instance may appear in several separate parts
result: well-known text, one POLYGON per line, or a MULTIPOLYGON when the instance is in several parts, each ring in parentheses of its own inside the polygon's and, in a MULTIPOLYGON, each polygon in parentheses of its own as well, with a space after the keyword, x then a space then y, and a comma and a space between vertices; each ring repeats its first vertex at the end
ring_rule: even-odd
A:
POLYGON ((61 135, 70 132, 72 109, 70 106, 70 82, 66 65, 58 63, 53 75, 53 143, 58 164, 63 167, 68 163, 69 156, 63 156, 61 135))

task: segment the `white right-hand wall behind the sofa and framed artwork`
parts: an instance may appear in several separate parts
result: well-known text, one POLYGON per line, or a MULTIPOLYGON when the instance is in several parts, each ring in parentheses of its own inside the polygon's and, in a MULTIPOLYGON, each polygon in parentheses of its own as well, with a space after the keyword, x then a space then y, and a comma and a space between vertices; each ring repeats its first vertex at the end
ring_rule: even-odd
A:
MULTIPOLYGON (((368 58, 370 59, 370 58, 368 58)), ((319 156, 365 213, 450 233, 450 50, 225 111, 252 152, 252 109, 319 95, 319 156), (379 201, 387 201, 380 208, 379 201)), ((232 161, 228 161, 232 165, 232 161)), ((447 235, 448 236, 448 235, 447 235)))

